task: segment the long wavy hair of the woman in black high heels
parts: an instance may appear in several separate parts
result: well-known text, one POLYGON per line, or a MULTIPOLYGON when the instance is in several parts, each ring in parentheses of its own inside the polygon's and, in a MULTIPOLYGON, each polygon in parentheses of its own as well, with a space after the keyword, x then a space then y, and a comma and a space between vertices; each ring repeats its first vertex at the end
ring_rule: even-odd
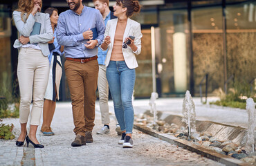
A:
MULTIPOLYGON (((19 0, 18 2, 18 8, 17 11, 21 12, 21 20, 25 22, 23 15, 27 13, 26 19, 28 19, 28 16, 32 12, 34 8, 34 1, 33 0, 19 0)), ((40 4, 40 7, 42 7, 42 1, 40 4)))

